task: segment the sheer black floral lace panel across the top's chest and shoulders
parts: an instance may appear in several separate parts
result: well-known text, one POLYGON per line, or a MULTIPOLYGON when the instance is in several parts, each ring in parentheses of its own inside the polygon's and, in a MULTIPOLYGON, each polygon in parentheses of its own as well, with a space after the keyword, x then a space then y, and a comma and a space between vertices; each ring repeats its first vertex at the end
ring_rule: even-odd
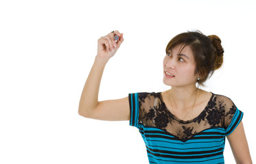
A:
POLYGON ((161 128, 181 141, 193 137, 207 128, 227 128, 236 107, 226 96, 213 94, 205 109, 193 120, 183 121, 165 106, 161 92, 139 93, 139 122, 144 126, 161 128))

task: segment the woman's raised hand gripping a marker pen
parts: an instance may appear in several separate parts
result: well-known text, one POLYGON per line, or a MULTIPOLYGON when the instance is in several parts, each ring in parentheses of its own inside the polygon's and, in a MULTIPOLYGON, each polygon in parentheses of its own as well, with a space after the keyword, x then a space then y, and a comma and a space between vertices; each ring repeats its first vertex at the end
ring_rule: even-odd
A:
POLYGON ((123 33, 115 31, 114 33, 108 33, 106 36, 102 36, 97 40, 97 56, 101 59, 110 59, 115 55, 117 49, 119 49, 121 43, 124 41, 123 33), (119 36, 119 40, 115 41, 115 36, 119 36))

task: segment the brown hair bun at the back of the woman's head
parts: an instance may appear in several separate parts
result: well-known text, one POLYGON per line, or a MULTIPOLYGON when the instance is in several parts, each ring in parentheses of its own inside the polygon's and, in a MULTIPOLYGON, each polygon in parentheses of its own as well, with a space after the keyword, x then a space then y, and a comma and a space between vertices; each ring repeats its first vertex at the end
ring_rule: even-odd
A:
POLYGON ((217 70, 218 68, 220 68, 220 66, 222 66, 222 63, 223 63, 224 49, 222 48, 221 40, 218 36, 211 35, 211 36, 208 36, 208 37, 211 39, 211 42, 213 43, 213 46, 216 49, 214 70, 217 70))

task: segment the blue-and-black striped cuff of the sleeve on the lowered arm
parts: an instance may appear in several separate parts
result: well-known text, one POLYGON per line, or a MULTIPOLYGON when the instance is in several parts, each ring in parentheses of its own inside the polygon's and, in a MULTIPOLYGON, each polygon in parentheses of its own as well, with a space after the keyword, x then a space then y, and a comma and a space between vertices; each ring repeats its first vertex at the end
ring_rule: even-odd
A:
POLYGON ((233 109, 231 109, 229 111, 229 113, 226 113, 226 122, 230 122, 229 125, 227 126, 227 128, 225 129, 225 135, 230 135, 235 128, 237 127, 237 125, 241 122, 244 113, 242 111, 240 111, 239 109, 237 109, 237 107, 235 107, 235 105, 233 106, 233 109), (233 112, 230 112, 232 111, 233 112))

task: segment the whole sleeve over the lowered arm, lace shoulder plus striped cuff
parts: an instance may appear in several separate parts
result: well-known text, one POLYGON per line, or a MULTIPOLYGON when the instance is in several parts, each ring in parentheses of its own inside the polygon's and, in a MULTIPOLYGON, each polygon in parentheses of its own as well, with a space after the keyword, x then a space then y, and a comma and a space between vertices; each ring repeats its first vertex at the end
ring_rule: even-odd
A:
POLYGON ((225 135, 230 135, 237 125, 241 122, 244 113, 237 109, 233 101, 229 98, 224 97, 223 101, 225 103, 225 114, 224 114, 224 128, 225 135))

